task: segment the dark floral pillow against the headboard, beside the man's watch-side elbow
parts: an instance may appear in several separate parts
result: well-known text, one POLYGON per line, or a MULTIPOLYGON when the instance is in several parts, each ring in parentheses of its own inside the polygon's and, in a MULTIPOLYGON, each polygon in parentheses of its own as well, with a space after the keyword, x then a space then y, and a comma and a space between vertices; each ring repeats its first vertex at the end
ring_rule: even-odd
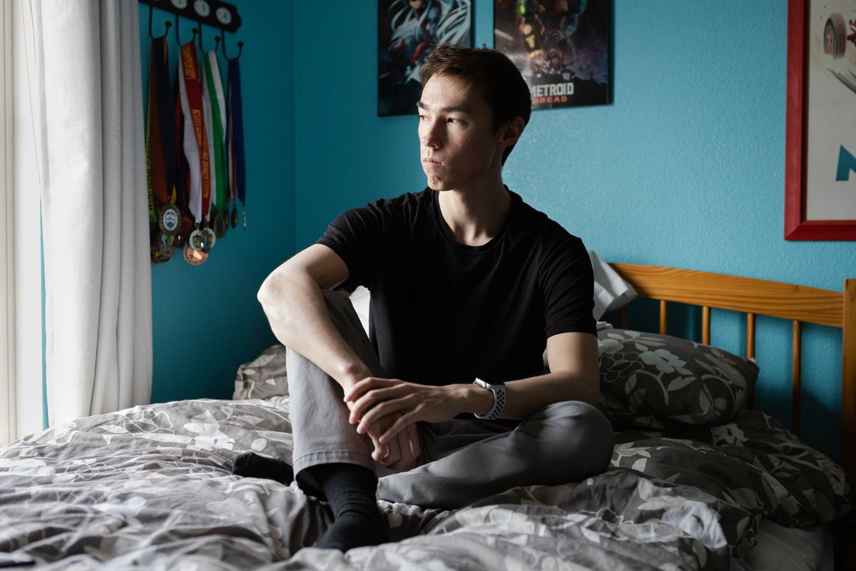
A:
POLYGON ((753 361, 672 336, 601 330, 597 346, 598 407, 618 427, 721 425, 740 412, 758 378, 753 361))

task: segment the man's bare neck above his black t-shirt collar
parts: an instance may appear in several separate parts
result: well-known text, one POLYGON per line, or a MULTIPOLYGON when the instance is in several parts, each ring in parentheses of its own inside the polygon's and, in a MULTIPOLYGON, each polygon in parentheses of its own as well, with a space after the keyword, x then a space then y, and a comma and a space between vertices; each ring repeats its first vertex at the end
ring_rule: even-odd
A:
POLYGON ((465 246, 484 246, 499 234, 511 208, 502 179, 483 187, 439 191, 437 199, 455 241, 465 246))

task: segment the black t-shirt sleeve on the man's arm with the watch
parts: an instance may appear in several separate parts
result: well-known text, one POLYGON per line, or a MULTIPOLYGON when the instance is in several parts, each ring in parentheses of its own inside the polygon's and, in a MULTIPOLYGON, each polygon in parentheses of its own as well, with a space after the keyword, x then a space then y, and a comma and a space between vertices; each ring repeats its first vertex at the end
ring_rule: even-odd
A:
POLYGON ((573 235, 550 249, 539 276, 544 291, 544 332, 597 335, 594 272, 583 242, 573 235))

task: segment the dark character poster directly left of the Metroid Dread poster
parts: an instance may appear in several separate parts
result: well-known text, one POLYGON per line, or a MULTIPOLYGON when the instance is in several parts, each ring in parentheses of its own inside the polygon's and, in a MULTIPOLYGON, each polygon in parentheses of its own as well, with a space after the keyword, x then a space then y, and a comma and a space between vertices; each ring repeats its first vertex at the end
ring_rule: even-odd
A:
POLYGON ((471 0, 379 0, 377 115, 416 112, 419 68, 433 45, 473 46, 471 0))

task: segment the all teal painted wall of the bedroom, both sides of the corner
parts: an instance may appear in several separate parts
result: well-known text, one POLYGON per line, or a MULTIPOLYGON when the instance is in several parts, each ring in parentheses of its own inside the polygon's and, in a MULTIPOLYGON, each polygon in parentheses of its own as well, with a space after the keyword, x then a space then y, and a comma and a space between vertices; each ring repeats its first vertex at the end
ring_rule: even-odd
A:
MULTIPOLYGON (((228 396, 272 341, 255 300, 267 273, 340 211, 425 185, 415 116, 377 117, 375 3, 236 3, 250 223, 199 268, 152 268, 155 401, 228 396)), ((856 243, 782 238, 787 3, 614 5, 613 104, 534 112, 508 185, 610 261, 841 290, 856 243)), ((476 45, 493 45, 490 1, 474 20, 476 45)), ((641 305, 634 326, 651 324, 641 305)), ((676 310, 672 332, 698 330, 697 312, 676 310)), ((744 328, 714 311, 712 342, 742 353, 744 328)), ((758 407, 789 425, 790 324, 758 328, 758 407)), ((837 457, 840 335, 805 326, 804 349, 804 435, 837 457)))

